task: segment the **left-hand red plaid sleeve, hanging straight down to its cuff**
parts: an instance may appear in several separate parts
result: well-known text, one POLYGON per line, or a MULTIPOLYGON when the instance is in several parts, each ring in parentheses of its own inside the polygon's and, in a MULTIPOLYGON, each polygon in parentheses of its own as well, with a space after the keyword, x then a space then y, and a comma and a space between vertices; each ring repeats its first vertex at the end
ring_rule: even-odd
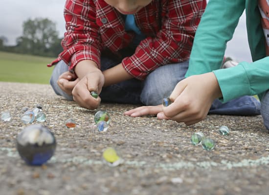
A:
POLYGON ((92 0, 67 0, 64 16, 66 29, 59 55, 69 66, 69 70, 82 60, 92 60, 100 68, 100 45, 98 26, 95 22, 95 5, 92 0))

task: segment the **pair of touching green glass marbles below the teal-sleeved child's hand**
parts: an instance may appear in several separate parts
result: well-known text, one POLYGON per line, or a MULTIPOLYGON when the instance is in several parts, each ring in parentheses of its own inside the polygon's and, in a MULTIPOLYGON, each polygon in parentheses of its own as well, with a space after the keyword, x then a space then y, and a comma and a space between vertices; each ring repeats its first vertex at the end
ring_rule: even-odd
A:
POLYGON ((202 144, 204 150, 213 150, 215 147, 215 142, 211 138, 204 137, 202 132, 196 132, 191 136, 191 143, 193 145, 202 144))

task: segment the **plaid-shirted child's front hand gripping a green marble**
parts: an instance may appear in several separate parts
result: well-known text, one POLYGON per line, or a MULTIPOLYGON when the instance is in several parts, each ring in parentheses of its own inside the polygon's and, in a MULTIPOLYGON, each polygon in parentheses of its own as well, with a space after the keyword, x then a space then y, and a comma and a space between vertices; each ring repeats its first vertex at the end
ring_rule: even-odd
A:
POLYGON ((104 81, 104 75, 100 70, 86 74, 72 90, 74 101, 81 107, 96 109, 101 102, 101 98, 99 96, 98 98, 93 98, 90 92, 95 91, 100 94, 104 81))

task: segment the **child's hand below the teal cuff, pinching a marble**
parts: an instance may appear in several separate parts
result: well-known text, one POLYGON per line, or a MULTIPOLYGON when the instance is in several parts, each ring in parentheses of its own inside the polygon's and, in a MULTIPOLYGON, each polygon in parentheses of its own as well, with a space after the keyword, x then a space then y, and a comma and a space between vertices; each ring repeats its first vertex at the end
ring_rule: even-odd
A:
POLYGON ((214 73, 191 76, 176 85, 170 96, 174 102, 168 107, 163 106, 163 113, 159 113, 157 117, 169 117, 192 125, 207 116, 212 102, 219 97, 222 97, 222 93, 214 73))

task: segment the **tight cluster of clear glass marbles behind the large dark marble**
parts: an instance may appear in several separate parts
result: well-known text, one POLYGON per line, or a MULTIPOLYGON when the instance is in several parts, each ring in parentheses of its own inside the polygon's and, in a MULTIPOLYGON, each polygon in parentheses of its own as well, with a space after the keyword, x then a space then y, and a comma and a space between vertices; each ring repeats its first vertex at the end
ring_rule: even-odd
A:
POLYGON ((22 108, 22 115, 21 115, 21 121, 24 124, 30 124, 34 120, 38 122, 45 122, 46 121, 46 115, 42 110, 42 105, 37 104, 35 108, 30 110, 28 107, 22 108))

